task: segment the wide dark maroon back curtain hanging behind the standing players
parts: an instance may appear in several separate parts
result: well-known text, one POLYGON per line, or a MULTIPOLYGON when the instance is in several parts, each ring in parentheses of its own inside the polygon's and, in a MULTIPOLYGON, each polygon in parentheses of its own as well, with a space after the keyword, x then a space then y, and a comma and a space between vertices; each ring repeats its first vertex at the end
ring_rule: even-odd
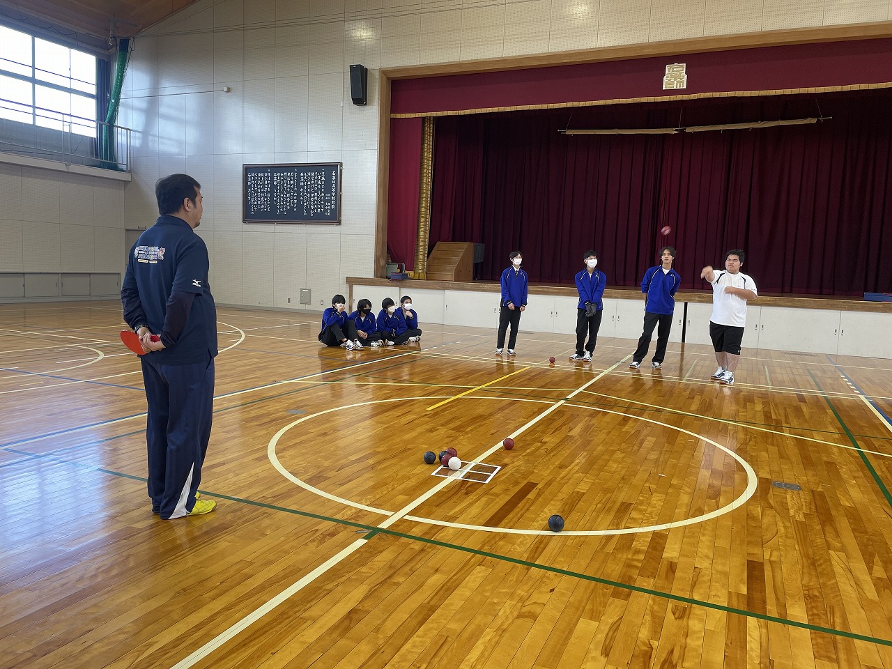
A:
POLYGON ((664 244, 686 288, 747 252, 764 293, 892 290, 892 92, 829 94, 817 125, 679 135, 565 136, 817 115, 812 96, 520 111, 437 120, 431 246, 483 242, 480 277, 508 252, 531 280, 570 283, 599 253, 611 285, 638 285, 664 244), (572 116, 571 116, 572 115, 572 116), (681 117, 680 117, 681 115, 681 117), (659 234, 668 225, 673 232, 659 234), (884 244, 887 247, 884 249, 884 244))

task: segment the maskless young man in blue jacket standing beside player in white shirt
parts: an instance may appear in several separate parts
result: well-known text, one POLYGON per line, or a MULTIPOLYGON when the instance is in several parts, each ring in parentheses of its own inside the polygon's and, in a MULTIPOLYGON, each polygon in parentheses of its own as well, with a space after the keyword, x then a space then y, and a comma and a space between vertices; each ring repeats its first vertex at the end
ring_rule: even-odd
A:
POLYGON ((672 316, 675 310, 675 293, 681 285, 681 277, 673 267, 675 249, 664 246, 660 249, 660 264, 649 268, 641 279, 641 293, 644 298, 644 332, 638 340, 638 348, 632 353, 629 367, 638 369, 641 360, 648 354, 650 337, 657 326, 657 351, 654 351, 653 368, 663 367, 666 344, 669 343, 669 331, 672 329, 672 316))

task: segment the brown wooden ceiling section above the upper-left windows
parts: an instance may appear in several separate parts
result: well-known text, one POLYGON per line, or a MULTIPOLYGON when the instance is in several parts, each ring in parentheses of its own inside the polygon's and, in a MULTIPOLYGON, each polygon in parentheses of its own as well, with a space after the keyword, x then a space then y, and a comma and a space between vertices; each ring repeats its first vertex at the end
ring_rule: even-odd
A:
POLYGON ((195 0, 0 0, 0 21, 109 49, 110 37, 132 37, 195 0), (47 25, 49 24, 49 25, 47 25), (75 33, 72 35, 71 33, 75 33))

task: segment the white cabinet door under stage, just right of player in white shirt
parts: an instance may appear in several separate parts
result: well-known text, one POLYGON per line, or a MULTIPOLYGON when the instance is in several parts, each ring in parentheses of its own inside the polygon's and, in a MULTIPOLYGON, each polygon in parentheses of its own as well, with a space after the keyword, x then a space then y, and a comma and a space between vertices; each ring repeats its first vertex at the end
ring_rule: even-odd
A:
MULTIPOLYGON (((749 330, 747 322, 747 331, 749 330)), ((838 348, 839 312, 826 309, 762 307, 759 318, 760 349, 835 354, 838 348)), ((743 338, 747 345, 747 337, 743 338)), ((752 346, 752 344, 748 344, 752 346)))

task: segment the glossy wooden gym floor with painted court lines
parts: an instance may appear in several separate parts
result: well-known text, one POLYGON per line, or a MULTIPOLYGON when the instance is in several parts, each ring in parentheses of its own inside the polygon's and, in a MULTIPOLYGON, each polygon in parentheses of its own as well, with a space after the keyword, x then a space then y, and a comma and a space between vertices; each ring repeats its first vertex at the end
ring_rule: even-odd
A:
POLYGON ((165 522, 120 305, 0 306, 0 667, 892 668, 892 361, 219 319, 219 506, 165 522))

